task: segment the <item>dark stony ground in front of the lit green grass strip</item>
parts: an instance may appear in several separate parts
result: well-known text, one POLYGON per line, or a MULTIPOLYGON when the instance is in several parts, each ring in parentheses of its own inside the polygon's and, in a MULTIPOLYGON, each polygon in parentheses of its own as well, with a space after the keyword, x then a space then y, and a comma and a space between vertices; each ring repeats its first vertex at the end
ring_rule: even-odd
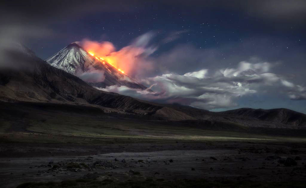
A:
POLYGON ((90 145, 3 143, 2 187, 306 185, 303 142, 117 138, 92 142, 90 145))

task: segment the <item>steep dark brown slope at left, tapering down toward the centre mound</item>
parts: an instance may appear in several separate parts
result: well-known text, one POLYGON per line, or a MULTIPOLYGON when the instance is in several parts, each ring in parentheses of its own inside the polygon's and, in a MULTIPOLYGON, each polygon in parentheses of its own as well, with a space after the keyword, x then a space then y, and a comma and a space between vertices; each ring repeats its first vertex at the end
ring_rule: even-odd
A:
POLYGON ((37 57, 8 53, 12 63, 28 66, 0 70, 0 99, 3 101, 87 103, 136 114, 162 108, 132 97, 96 90, 78 77, 37 57))

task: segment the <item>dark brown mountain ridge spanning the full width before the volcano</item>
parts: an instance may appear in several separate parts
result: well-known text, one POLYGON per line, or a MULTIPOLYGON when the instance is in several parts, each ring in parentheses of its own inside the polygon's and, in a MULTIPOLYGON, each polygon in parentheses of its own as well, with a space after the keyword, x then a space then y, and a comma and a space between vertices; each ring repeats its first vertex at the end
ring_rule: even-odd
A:
POLYGON ((77 76, 49 65, 38 57, 12 53, 12 62, 27 68, 0 70, 0 100, 87 105, 103 112, 151 116, 161 120, 192 120, 200 124, 238 127, 306 127, 306 115, 289 109, 236 109, 211 112, 183 105, 158 104, 97 90, 77 76), (199 122, 198 122, 199 123, 199 122))

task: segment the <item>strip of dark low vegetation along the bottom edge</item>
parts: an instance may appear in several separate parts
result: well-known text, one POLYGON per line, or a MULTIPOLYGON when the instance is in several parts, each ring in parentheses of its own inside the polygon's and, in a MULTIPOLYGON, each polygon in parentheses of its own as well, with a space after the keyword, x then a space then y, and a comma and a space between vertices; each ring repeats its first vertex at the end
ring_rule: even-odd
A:
POLYGON ((115 182, 112 179, 104 179, 103 181, 89 180, 89 179, 77 179, 69 180, 63 182, 28 182, 23 183, 17 188, 53 188, 53 187, 68 187, 68 188, 211 188, 211 187, 235 187, 235 188, 245 188, 245 187, 256 187, 256 188, 304 188, 306 182, 253 182, 253 181, 207 181, 205 179, 198 180, 176 180, 176 181, 165 181, 164 179, 149 181, 133 181, 128 180, 125 182, 115 182))

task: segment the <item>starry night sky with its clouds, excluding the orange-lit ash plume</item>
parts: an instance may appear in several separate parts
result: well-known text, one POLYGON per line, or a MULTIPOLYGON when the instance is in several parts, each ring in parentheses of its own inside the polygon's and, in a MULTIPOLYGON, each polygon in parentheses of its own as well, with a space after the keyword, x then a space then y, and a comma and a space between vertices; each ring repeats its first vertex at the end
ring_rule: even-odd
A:
POLYGON ((135 61, 150 68, 129 76, 156 93, 107 91, 212 111, 306 113, 303 0, 2 3, 1 40, 21 41, 42 59, 84 39, 111 42, 119 52, 143 48, 135 61))

